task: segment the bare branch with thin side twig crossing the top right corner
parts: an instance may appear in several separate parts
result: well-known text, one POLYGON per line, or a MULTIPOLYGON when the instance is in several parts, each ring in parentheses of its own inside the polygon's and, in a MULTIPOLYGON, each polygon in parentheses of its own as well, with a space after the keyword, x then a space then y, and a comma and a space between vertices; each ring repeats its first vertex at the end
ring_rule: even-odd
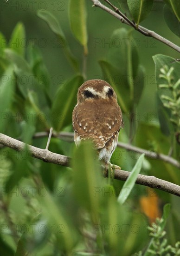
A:
POLYGON ((118 20, 121 20, 122 23, 129 25, 131 27, 134 27, 137 31, 139 31, 141 34, 144 34, 145 36, 153 37, 162 43, 166 44, 167 46, 173 48, 175 51, 180 53, 180 47, 175 45, 173 42, 167 40, 166 38, 162 37, 161 35, 155 33, 152 30, 148 30, 145 27, 138 26, 136 27, 136 24, 134 24, 129 18, 127 18, 118 8, 116 8, 112 3, 110 3, 108 0, 105 0, 111 7, 113 7, 113 10, 109 9, 105 5, 103 5, 99 0, 91 0, 95 7, 99 7, 103 9, 104 11, 110 13, 114 17, 116 17, 118 20))

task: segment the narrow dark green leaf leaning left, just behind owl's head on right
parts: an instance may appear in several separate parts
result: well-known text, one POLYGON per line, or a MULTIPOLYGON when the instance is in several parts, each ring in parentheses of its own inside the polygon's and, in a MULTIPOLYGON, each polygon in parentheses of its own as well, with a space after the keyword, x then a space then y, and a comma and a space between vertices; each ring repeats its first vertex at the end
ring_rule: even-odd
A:
POLYGON ((123 83, 122 76, 119 74, 116 67, 113 67, 107 61, 99 61, 99 64, 102 68, 105 80, 115 89, 117 100, 123 112, 128 113, 130 104, 129 88, 123 83))

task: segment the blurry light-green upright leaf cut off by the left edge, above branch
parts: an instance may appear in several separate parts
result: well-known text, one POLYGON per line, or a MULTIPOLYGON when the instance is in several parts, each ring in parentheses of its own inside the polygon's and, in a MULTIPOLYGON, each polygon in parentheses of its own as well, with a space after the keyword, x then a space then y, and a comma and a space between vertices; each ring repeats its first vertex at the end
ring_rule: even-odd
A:
POLYGON ((6 126, 8 111, 13 103, 13 96, 15 91, 15 76, 13 68, 9 67, 6 72, 1 76, 0 80, 0 115, 2 118, 1 130, 4 131, 6 126))

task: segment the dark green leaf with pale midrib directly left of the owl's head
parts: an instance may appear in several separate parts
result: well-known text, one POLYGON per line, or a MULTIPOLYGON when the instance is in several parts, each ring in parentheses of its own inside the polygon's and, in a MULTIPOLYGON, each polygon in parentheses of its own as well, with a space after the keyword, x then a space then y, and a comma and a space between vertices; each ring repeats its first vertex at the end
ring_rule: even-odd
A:
POLYGON ((77 91, 83 82, 83 77, 78 75, 59 88, 51 110, 51 123, 57 131, 72 122, 72 111, 77 102, 77 91))

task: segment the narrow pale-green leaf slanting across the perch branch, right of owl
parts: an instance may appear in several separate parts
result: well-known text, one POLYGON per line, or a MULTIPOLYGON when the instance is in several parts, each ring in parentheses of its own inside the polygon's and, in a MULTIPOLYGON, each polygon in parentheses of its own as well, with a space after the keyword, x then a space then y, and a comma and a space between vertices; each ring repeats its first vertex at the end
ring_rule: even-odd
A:
POLYGON ((128 179, 126 180, 126 182, 124 183, 121 193, 118 196, 117 201, 120 204, 123 204, 126 199, 128 198, 131 190, 133 189, 134 185, 135 185, 135 181, 137 179, 138 174, 141 171, 141 167, 142 167, 142 162, 144 160, 144 154, 140 155, 139 159, 137 160, 137 162, 135 163, 134 168, 132 169, 128 179), (123 191, 123 193, 122 193, 123 191), (125 192, 124 192, 125 191, 125 192), (127 192, 127 193, 126 193, 127 192))

